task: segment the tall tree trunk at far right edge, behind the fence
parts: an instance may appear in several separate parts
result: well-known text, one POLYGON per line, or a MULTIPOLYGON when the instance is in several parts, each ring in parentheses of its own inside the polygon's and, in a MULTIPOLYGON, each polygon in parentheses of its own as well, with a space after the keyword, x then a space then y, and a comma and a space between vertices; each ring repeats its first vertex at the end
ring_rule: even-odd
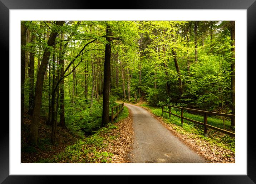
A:
MULTIPOLYGON (((235 21, 230 21, 230 33, 231 33, 231 111, 232 114, 235 114, 235 104, 236 104, 236 94, 235 94, 235 46, 236 46, 236 30, 235 30, 235 21)), ((231 126, 235 127, 235 118, 231 119, 231 126)))

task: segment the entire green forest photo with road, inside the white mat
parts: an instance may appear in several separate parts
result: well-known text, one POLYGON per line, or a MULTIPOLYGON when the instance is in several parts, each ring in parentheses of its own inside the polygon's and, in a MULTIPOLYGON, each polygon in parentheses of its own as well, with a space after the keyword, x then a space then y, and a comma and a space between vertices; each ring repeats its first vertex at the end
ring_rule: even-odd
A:
POLYGON ((235 21, 28 20, 20 34, 21 163, 235 163, 235 21))

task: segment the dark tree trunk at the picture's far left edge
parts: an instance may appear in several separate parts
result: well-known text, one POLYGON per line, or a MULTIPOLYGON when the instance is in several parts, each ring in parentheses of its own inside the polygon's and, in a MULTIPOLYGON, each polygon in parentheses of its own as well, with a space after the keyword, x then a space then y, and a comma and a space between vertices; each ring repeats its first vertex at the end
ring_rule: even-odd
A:
POLYGON ((24 129, 24 84, 25 84, 25 62, 26 62, 26 30, 27 27, 25 26, 25 22, 21 21, 21 29, 20 29, 20 122, 21 122, 21 129, 24 129))

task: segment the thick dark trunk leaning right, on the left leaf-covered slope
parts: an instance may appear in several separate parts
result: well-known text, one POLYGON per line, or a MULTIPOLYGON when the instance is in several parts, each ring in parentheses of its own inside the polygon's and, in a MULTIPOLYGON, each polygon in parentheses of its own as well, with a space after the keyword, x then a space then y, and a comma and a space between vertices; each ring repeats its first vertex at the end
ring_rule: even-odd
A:
MULTIPOLYGON (((56 21, 54 26, 62 26, 63 23, 64 21, 56 21)), ((47 42, 48 46, 53 46, 57 34, 58 34, 58 31, 56 31, 56 29, 53 29, 47 42)), ((42 62, 38 71, 36 85, 35 85, 35 98, 34 98, 35 104, 34 104, 33 116, 31 119, 30 132, 29 132, 29 142, 34 143, 36 145, 38 143, 38 129, 39 129, 39 118, 40 118, 40 108, 41 108, 42 93, 43 93, 44 75, 45 75, 46 67, 48 65, 49 57, 50 57, 50 50, 48 48, 45 48, 42 62)))

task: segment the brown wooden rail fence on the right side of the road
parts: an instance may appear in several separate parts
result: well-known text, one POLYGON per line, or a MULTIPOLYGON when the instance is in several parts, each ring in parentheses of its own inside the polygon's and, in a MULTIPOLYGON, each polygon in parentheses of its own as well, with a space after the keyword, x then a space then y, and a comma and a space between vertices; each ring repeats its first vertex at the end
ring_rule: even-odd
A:
POLYGON ((235 115, 233 115, 233 114, 223 114, 223 113, 217 113, 217 112, 201 111, 201 110, 197 110, 197 109, 189 109, 189 108, 177 107, 177 106, 170 106, 170 105, 163 105, 163 106, 162 106, 162 114, 163 114, 164 112, 169 113, 169 117, 171 117, 171 114, 172 114, 172 115, 174 115, 174 116, 177 116, 177 117, 181 118, 181 126, 183 126, 183 119, 186 119, 187 121, 191 121, 191 122, 193 122, 193 123, 201 124, 202 126, 204 126, 205 137, 208 136, 207 128, 216 130, 216 131, 218 131, 218 132, 225 133, 225 134, 230 135, 230 136, 233 136, 233 137, 235 137, 235 135, 236 135, 236 134, 233 133, 233 132, 230 132, 230 131, 227 131, 227 130, 225 130, 225 129, 221 129, 221 128, 214 127, 214 126, 211 126, 211 125, 207 124, 207 114, 216 115, 216 116, 230 117, 230 118, 233 118, 233 119, 235 120, 235 115), (169 111, 164 111, 164 108, 163 108, 164 106, 169 107, 169 111), (172 113, 172 112, 171 112, 171 107, 181 109, 181 116, 172 113), (203 114, 203 123, 202 123, 202 122, 199 122, 199 121, 195 121, 195 120, 193 120, 193 119, 189 119, 189 118, 183 117, 183 110, 191 111, 191 112, 197 112, 197 113, 202 113, 202 114, 203 114))

